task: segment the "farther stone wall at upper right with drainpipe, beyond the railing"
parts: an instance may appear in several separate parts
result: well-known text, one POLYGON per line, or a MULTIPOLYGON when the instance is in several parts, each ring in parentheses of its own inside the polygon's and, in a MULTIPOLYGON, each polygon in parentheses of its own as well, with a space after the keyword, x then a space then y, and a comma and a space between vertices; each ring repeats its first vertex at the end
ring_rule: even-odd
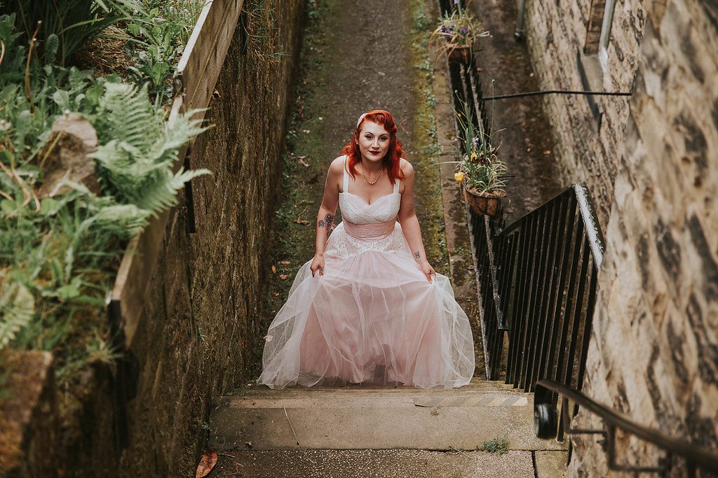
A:
MULTIPOLYGON (((616 0, 607 64, 591 49, 592 3, 602 0, 527 0, 526 38, 542 90, 629 91, 645 26, 645 1, 616 0), (581 57, 582 59, 579 59, 581 57), (581 70, 584 70, 582 80, 581 70)), ((600 15, 599 15, 600 16, 600 15)), ((595 201, 602 229, 608 222, 613 183, 628 118, 626 97, 547 95, 546 114, 557 145, 561 180, 584 182, 595 201)))

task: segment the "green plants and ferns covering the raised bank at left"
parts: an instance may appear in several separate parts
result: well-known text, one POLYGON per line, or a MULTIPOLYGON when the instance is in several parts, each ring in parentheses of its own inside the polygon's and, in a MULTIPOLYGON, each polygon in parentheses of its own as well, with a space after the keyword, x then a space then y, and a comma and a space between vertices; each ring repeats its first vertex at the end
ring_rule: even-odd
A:
POLYGON ((191 6, 198 14, 204 0, 155 3, 0 4, 0 350, 52 350, 61 386, 88 363, 113 363, 106 297, 127 241, 151 216, 176 204, 186 181, 209 173, 172 172, 178 150, 203 129, 190 119, 195 112, 167 123, 162 107, 196 19, 173 7, 191 6), (163 20, 167 12, 174 19, 187 15, 185 23, 177 27, 169 16, 163 20), (42 29, 31 48, 38 19, 42 29), (138 59, 129 76, 144 87, 122 84, 118 75, 98 78, 65 66, 73 52, 120 19, 113 35, 121 32, 117 27, 131 33, 131 25, 147 32, 128 34, 138 59), (149 58, 145 63, 143 55, 149 58), (152 102, 148 90, 154 91, 152 102), (80 113, 95 128, 100 143, 95 166, 103 187, 96 194, 61 181, 62 192, 41 201, 37 191, 52 148, 50 127, 63 113, 80 113))

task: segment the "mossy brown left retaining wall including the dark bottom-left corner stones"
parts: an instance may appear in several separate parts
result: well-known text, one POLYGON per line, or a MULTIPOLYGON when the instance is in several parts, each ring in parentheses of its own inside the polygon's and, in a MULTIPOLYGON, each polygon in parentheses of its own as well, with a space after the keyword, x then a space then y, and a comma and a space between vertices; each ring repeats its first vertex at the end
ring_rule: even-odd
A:
POLYGON ((213 176, 195 178, 192 201, 180 194, 169 214, 124 358, 80 373, 73 396, 57 396, 52 360, 38 358, 37 373, 29 358, 0 364, 0 376, 22 365, 6 379, 22 393, 3 403, 14 420, 0 420, 0 475, 194 476, 210 407, 257 375, 264 345, 271 264, 263 245, 279 193, 304 4, 244 1, 205 117, 213 128, 190 157, 190 168, 213 176))

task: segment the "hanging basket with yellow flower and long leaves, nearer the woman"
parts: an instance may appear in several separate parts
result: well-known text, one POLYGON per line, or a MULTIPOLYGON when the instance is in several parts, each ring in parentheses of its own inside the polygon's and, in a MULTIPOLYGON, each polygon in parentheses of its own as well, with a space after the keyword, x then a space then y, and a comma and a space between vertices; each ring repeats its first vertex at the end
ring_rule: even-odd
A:
POLYGON ((496 216, 506 196, 506 163, 498 158, 490 136, 475 128, 467 102, 462 102, 462 110, 457 113, 461 159, 456 162, 454 179, 462 183, 464 197, 477 214, 496 216))

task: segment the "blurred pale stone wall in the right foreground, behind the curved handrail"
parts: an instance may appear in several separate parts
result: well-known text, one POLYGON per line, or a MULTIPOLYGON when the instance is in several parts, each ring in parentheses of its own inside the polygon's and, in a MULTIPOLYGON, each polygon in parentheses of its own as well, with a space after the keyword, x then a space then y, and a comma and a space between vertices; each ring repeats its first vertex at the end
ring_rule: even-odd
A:
MULTIPOLYGON (((584 391, 715 451, 718 6, 654 0, 645 12, 584 391)), ((580 413, 574 426, 601 423, 580 413)), ((577 436, 574 445, 572 476, 608 475, 594 438, 577 436)), ((662 456, 635 439, 620 438, 617 450, 618 462, 651 465, 662 456)), ((673 475, 684 473, 676 461, 673 475)))

